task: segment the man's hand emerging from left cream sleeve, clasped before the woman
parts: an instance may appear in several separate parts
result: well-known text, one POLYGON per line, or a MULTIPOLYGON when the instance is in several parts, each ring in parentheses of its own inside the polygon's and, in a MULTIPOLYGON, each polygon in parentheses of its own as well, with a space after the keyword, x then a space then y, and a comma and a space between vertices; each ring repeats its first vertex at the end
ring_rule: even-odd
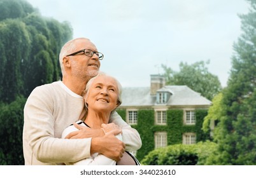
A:
POLYGON ((115 161, 120 161, 125 151, 124 142, 120 141, 115 135, 120 134, 121 130, 107 132, 104 137, 93 138, 90 146, 90 153, 101 153, 115 161))

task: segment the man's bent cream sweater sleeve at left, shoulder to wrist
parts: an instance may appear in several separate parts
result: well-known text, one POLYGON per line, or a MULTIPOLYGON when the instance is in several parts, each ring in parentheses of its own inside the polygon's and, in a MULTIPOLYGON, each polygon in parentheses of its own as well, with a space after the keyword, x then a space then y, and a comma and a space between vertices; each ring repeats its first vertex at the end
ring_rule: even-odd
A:
POLYGON ((33 154, 44 163, 75 162, 89 158, 91 139, 55 138, 52 113, 50 93, 36 88, 24 107, 24 157, 32 160, 30 156, 33 154))

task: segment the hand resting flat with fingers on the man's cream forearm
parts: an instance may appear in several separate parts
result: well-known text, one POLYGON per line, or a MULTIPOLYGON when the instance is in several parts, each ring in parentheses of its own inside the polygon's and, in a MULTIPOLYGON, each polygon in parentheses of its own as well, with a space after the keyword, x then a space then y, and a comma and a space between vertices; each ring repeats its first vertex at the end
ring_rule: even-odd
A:
POLYGON ((78 125, 74 123, 74 126, 78 128, 78 131, 69 133, 65 139, 85 139, 85 138, 95 138, 103 137, 104 133, 102 129, 94 129, 78 125))

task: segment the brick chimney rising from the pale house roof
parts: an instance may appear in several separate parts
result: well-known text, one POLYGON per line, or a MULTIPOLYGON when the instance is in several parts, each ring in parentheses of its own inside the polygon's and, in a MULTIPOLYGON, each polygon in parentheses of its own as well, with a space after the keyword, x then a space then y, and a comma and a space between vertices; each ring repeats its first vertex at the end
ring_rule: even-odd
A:
POLYGON ((166 79, 164 78, 164 76, 161 76, 159 74, 152 74, 150 75, 150 78, 150 95, 156 95, 157 90, 166 85, 166 79))

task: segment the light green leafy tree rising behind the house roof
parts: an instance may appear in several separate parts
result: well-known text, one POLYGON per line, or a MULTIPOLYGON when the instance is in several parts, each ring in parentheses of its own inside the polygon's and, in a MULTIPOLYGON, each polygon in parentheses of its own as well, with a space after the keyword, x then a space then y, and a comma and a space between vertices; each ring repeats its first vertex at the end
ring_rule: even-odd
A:
POLYGON ((173 71, 166 65, 162 65, 167 85, 187 85, 192 90, 201 93, 211 100, 222 89, 217 76, 211 74, 206 67, 210 61, 195 62, 188 65, 180 63, 180 72, 173 71))

